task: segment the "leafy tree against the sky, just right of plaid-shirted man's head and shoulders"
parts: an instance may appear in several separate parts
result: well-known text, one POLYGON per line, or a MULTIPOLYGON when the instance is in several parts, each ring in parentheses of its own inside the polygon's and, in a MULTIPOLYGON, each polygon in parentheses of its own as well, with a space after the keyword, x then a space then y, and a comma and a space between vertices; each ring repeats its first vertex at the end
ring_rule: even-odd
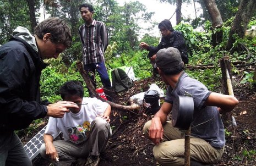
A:
POLYGON ((143 22, 150 22, 152 12, 146 12, 140 2, 129 2, 123 6, 110 5, 112 11, 106 20, 110 41, 117 42, 117 53, 135 49, 138 46, 138 33, 143 22), (115 12, 114 12, 115 11, 115 12))

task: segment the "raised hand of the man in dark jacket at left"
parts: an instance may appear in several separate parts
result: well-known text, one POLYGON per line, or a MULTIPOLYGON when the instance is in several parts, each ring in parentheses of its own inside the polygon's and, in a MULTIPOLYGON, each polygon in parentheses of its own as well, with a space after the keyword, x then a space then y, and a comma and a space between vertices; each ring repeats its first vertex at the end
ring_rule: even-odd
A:
POLYGON ((49 117, 62 118, 66 112, 69 112, 69 108, 78 108, 77 104, 69 101, 60 101, 47 106, 49 117))

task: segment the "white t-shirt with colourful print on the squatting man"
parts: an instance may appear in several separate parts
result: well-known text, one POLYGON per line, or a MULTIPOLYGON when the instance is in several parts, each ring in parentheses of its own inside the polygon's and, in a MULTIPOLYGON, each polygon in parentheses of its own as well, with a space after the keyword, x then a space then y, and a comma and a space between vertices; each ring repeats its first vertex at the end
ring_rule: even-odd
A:
POLYGON ((64 140, 73 143, 81 143, 88 139, 90 135, 91 122, 105 112, 108 103, 102 102, 97 98, 84 97, 81 109, 77 114, 72 112, 66 113, 63 118, 50 117, 46 126, 45 134, 57 137, 62 131, 64 140))

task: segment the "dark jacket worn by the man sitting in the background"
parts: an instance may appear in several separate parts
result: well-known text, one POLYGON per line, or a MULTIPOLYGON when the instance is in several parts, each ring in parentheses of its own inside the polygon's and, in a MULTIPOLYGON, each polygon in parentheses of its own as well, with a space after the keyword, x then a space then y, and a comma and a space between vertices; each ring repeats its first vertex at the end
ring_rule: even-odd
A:
POLYGON ((167 47, 175 47, 181 53, 182 61, 187 64, 188 63, 188 50, 185 44, 184 37, 179 31, 172 31, 171 36, 162 37, 161 42, 156 47, 149 46, 147 49, 149 51, 148 57, 154 56, 162 48, 167 47))

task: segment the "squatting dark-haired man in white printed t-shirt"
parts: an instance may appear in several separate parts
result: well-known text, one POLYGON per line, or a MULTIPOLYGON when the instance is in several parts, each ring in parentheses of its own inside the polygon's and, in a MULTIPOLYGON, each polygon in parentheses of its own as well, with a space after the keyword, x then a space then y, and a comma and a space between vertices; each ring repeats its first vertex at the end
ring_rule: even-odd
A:
POLYGON ((58 165, 99 164, 100 153, 105 150, 111 135, 111 106, 97 98, 84 96, 79 81, 68 81, 60 88, 61 97, 74 102, 79 108, 70 109, 63 118, 51 118, 48 121, 41 156, 58 165), (64 140, 53 141, 59 132, 64 140))

